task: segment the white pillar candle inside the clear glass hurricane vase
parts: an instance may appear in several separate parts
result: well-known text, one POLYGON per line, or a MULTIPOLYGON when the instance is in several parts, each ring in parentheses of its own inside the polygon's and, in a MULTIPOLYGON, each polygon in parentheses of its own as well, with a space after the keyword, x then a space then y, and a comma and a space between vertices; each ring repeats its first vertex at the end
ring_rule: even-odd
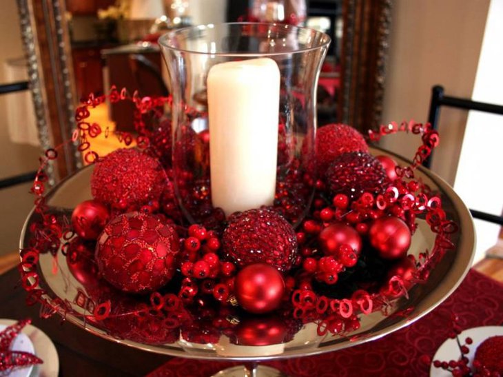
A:
POLYGON ((272 205, 280 70, 269 58, 214 65, 207 79, 212 203, 229 216, 272 205))

